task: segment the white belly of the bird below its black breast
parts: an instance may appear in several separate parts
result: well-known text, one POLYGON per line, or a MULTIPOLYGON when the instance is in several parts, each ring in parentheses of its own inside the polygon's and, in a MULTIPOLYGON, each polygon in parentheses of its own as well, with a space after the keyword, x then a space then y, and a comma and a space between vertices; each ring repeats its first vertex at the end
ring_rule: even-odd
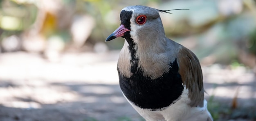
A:
POLYGON ((189 106, 190 99, 188 98, 188 90, 185 87, 180 100, 161 111, 142 109, 129 100, 128 102, 146 121, 213 121, 211 114, 207 110, 207 101, 205 99, 204 107, 189 106))

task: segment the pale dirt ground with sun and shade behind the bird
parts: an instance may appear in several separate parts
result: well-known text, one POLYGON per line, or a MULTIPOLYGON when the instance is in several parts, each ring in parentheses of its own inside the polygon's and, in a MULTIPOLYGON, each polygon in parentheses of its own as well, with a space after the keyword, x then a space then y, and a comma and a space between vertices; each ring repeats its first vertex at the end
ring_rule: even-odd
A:
MULTIPOLYGON (((0 121, 144 121, 119 89, 118 54, 64 53, 54 62, 40 54, 0 54, 0 121)), ((213 117, 256 119, 250 69, 214 64, 202 70, 213 117), (236 96, 236 109, 225 110, 236 96)))

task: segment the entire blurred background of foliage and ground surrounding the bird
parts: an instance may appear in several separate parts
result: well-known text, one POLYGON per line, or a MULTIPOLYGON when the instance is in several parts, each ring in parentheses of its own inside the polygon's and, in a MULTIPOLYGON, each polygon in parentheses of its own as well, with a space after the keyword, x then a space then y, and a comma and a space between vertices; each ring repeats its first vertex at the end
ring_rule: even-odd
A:
POLYGON ((166 36, 200 59, 216 121, 256 121, 255 0, 0 0, 0 121, 144 121, 105 42, 125 6, 160 13, 166 36))

